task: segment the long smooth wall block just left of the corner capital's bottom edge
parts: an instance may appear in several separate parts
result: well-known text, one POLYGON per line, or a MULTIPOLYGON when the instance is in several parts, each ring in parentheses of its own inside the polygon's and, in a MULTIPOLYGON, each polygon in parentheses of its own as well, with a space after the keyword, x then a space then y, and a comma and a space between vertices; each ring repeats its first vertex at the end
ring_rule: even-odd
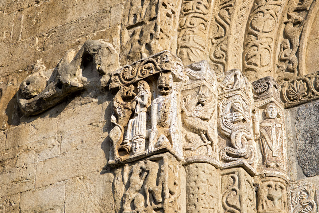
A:
POLYGON ((62 154, 38 163, 35 187, 42 187, 93 171, 102 170, 104 165, 104 152, 100 146, 92 146, 62 154))

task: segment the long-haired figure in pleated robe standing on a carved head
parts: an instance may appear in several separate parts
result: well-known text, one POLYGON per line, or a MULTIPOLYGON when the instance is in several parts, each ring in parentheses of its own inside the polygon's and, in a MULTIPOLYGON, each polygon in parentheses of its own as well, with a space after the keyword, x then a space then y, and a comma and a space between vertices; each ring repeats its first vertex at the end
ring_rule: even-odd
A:
POLYGON ((126 136, 123 140, 123 144, 131 142, 133 154, 145 150, 146 111, 151 105, 152 98, 150 87, 145 81, 137 83, 137 92, 132 100, 132 102, 136 102, 134 115, 127 124, 126 136))

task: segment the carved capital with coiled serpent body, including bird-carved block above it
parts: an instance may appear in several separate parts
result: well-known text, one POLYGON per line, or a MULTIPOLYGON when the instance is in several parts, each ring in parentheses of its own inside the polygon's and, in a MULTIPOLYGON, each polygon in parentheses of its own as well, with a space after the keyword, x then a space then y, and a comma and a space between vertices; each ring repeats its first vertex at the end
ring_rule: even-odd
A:
POLYGON ((252 164, 255 150, 251 143, 251 85, 239 69, 227 71, 217 79, 220 80, 218 127, 220 133, 228 138, 220 157, 225 162, 241 160, 252 164))

